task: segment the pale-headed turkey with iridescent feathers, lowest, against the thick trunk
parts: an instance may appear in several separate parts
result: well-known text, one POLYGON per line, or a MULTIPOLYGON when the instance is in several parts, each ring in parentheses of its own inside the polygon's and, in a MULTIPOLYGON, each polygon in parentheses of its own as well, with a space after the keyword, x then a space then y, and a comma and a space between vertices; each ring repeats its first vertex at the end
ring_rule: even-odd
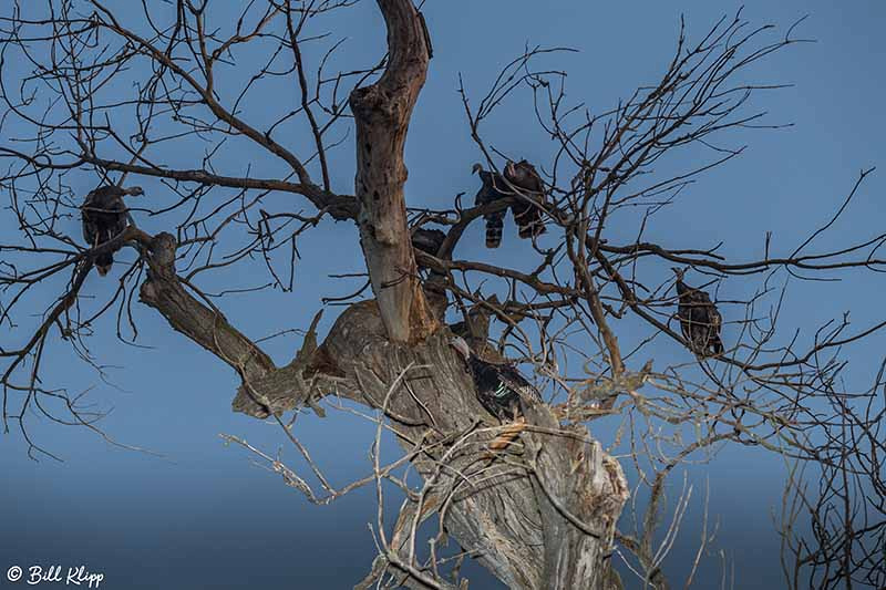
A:
POLYGON ((523 415, 522 404, 542 402, 542 394, 509 364, 493 364, 478 358, 463 338, 451 341, 467 364, 474 381, 477 400, 502 422, 515 421, 523 415))

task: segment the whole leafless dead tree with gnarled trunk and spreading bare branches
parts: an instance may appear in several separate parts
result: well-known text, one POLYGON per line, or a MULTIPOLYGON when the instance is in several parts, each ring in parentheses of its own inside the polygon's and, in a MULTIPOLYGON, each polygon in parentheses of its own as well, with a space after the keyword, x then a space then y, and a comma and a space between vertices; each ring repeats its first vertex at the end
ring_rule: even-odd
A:
POLYGON ((886 587, 883 374, 866 391, 842 384, 842 354, 886 321, 780 322, 786 277, 802 290, 883 270, 886 234, 815 248, 873 170, 835 196, 833 218, 793 251, 766 240, 728 260, 645 235, 649 219, 742 153, 732 133, 779 126, 755 102, 779 86, 749 80, 755 64, 803 42, 796 27, 739 13, 689 38, 681 24, 660 79, 608 110, 567 99, 566 73, 547 65, 560 50, 529 48, 488 87, 460 86, 481 161, 474 185, 453 183, 415 207, 404 145, 434 30, 410 0, 377 0, 387 46, 340 69, 347 43, 334 19, 354 4, 261 0, 220 21, 219 8, 195 0, 141 12, 96 0, 0 11, 0 186, 18 228, 0 244, 6 432, 35 457, 53 456, 29 428, 35 418, 107 436, 102 415, 53 374, 51 355, 73 352, 104 377, 95 339, 135 342, 140 324, 165 322, 183 345, 234 370, 233 408, 279 424, 310 473, 229 441, 312 503, 375 489, 379 553, 358 588, 465 588, 465 558, 515 589, 619 588, 617 571, 624 587, 689 584, 712 535, 704 530, 689 580, 666 579, 691 501, 688 491, 667 496, 668 476, 729 444, 791 465, 777 531, 791 587, 886 587), (486 136, 513 93, 533 96, 526 116, 550 138, 544 158, 486 136), (347 189, 333 186, 343 151, 356 156, 347 189), (666 156, 683 167, 662 174, 666 156), (473 203, 462 199, 472 190, 473 203), (616 218, 630 219, 636 240, 618 239, 616 218), (532 256, 496 265, 506 257, 466 253, 482 250, 467 241, 484 230, 487 247, 530 244, 532 256), (359 240, 365 273, 342 280, 364 284, 328 293, 331 328, 320 338, 318 313, 279 364, 226 302, 298 296, 295 269, 319 231, 359 240), (107 273, 101 299, 83 296, 93 268, 107 273), (207 287, 219 282, 218 292, 207 287), (54 300, 34 318, 47 293, 54 300), (653 342, 676 360, 653 361, 653 342), (337 488, 311 462, 297 416, 353 412, 343 400, 364 407, 377 434, 368 475, 337 488), (591 421, 612 423, 617 436, 593 437, 591 421), (390 436, 402 456, 389 463, 380 447, 390 436), (395 516, 383 509, 392 493, 402 498, 395 516), (430 535, 427 520, 437 525, 430 535))

